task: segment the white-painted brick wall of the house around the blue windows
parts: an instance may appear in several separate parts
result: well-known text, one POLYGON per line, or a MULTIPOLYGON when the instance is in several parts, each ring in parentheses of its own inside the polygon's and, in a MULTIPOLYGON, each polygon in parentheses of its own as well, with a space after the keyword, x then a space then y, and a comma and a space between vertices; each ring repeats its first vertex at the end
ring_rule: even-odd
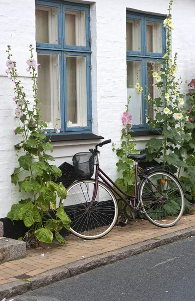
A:
MULTIPOLYGON (((71 2, 74 2, 71 0, 71 2)), ((92 110, 93 132, 105 139, 111 138, 119 145, 121 135, 121 114, 126 104, 126 9, 150 14, 165 15, 168 0, 78 0, 91 3, 92 38, 92 110)), ((194 27, 195 3, 193 0, 174 0, 172 18, 175 30, 172 32, 172 51, 178 51, 178 76, 183 81, 194 77, 194 27)), ((17 51, 20 64, 29 45, 35 46, 35 0, 0 1, 0 218, 5 217, 13 203, 19 200, 10 175, 18 166, 14 144, 20 138, 13 133, 16 126, 13 84, 4 76, 4 60, 7 45, 17 51)), ((25 63, 25 61, 24 61, 25 63)), ((24 64, 25 68, 25 64, 24 64)), ((6 67, 5 67, 6 69, 6 67)), ((31 98, 31 80, 24 77, 27 95, 31 98)), ((28 76, 28 74, 26 75, 28 76)), ((183 85, 184 86, 184 85, 183 85)), ((186 86, 184 86, 186 90, 186 86)), ((137 148, 144 147, 148 137, 137 138, 137 148)), ((93 147, 92 141, 66 141, 54 144, 56 165, 72 156, 93 147)), ((101 148, 101 166, 114 179, 117 177, 117 158, 111 144, 101 148)))

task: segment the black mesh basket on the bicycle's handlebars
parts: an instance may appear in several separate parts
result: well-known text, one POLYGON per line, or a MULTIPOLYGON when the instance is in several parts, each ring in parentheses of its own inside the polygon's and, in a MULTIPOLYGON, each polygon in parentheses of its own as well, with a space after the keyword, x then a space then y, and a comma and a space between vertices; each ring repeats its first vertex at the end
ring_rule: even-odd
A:
POLYGON ((77 180, 89 179, 94 172, 94 155, 91 153, 77 153, 73 156, 75 178, 77 180))

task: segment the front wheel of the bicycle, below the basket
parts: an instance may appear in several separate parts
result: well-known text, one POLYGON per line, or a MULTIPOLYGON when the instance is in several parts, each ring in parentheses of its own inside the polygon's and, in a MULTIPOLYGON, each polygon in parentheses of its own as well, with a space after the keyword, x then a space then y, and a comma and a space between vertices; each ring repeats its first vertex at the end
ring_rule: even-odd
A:
POLYGON ((84 239, 96 239, 106 235, 114 227, 118 216, 118 204, 113 192, 98 182, 97 196, 91 204, 95 180, 73 183, 67 189, 67 198, 61 199, 71 220, 71 232, 84 239))

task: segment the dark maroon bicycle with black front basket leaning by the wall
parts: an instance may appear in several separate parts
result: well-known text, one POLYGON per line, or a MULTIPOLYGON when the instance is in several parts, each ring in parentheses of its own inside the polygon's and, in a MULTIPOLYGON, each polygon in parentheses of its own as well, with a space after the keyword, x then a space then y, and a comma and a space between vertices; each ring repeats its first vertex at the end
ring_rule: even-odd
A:
POLYGON ((60 200, 71 220, 71 232, 84 239, 108 234, 117 220, 118 199, 124 202, 123 212, 127 218, 132 218, 131 213, 137 212, 156 226, 175 225, 184 210, 184 195, 179 180, 170 173, 169 167, 142 170, 138 162, 144 160, 146 154, 127 155, 135 161, 134 195, 127 194, 99 167, 98 147, 110 142, 100 142, 94 149, 89 149, 89 153, 78 153, 73 157, 77 179, 81 180, 67 189, 65 200, 60 200), (91 179, 94 165, 95 179, 91 179), (170 214, 170 204, 175 207, 174 214, 170 214))

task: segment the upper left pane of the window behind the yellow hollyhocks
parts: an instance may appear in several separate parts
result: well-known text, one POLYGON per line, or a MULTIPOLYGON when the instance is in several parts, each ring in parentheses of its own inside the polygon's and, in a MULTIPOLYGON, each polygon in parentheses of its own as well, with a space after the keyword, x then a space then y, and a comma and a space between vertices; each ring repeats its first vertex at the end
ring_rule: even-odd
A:
POLYGON ((141 22, 127 19, 126 22, 127 50, 141 51, 141 22))

